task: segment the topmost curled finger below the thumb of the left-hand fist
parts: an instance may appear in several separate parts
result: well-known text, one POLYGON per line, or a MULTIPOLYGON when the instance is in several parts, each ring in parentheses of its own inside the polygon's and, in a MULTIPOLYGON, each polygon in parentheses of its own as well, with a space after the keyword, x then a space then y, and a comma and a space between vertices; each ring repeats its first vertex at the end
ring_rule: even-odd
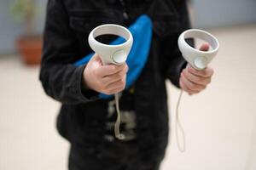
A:
POLYGON ((119 71, 125 69, 127 65, 102 65, 99 69, 97 69, 97 75, 106 77, 108 75, 113 75, 119 71))

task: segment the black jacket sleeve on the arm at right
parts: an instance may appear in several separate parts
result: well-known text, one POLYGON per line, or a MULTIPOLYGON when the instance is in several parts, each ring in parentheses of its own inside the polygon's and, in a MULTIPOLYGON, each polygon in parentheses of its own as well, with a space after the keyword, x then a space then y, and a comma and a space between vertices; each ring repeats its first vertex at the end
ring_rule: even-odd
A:
MULTIPOLYGON (((170 46, 167 47, 172 49, 170 52, 171 57, 169 56, 169 65, 167 68, 166 72, 166 77, 168 77, 171 82, 177 87, 179 87, 179 78, 180 78, 180 73, 183 70, 183 68, 186 67, 187 62, 185 59, 183 59, 183 56, 181 52, 179 51, 177 47, 177 38, 179 35, 190 28, 190 23, 189 23, 189 14, 187 10, 187 5, 186 1, 180 1, 182 3, 179 3, 177 5, 177 14, 178 14, 178 29, 175 32, 173 37, 170 37, 168 42, 166 44, 169 44, 170 46), (171 48, 170 48, 171 47, 171 48)), ((190 45, 193 45, 193 41, 189 42, 190 45)))

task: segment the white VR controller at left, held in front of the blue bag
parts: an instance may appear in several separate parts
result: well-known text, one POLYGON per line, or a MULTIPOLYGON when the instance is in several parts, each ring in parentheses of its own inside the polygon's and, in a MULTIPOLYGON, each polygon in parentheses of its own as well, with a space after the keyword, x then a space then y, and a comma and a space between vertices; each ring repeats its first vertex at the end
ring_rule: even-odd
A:
POLYGON ((88 37, 88 42, 90 48, 92 48, 96 54, 100 55, 103 65, 122 65, 125 63, 125 60, 130 53, 133 37, 131 32, 124 26, 106 24, 97 26, 95 29, 93 29, 88 37), (96 41, 95 38, 102 35, 115 35, 123 37, 125 38, 125 42, 118 45, 108 45, 96 41))

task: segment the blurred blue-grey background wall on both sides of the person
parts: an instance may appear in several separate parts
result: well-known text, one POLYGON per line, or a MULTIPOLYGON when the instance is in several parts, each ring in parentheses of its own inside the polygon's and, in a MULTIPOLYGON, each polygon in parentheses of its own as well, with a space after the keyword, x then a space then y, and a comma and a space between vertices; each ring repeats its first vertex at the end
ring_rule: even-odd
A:
MULTIPOLYGON (((14 0, 0 0, 0 55, 12 54, 15 49, 15 38, 22 32, 20 23, 15 22, 9 14, 9 6, 14 0)), ((44 10, 47 1, 37 0, 41 6, 36 30, 44 30, 44 10)), ((256 22, 255 0, 191 0, 191 17, 193 26, 209 28, 234 26, 256 22)))

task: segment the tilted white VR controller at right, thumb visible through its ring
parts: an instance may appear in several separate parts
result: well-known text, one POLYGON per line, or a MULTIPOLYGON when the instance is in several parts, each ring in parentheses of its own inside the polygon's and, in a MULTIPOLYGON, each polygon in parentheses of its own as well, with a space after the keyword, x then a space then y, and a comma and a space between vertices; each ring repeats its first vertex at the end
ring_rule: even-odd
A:
POLYGON ((183 54, 183 58, 194 67, 196 70, 203 70, 212 61, 214 56, 218 53, 218 40, 207 31, 198 29, 189 29, 183 31, 178 37, 178 48, 183 54), (212 49, 209 51, 201 51, 196 48, 192 48, 186 41, 186 38, 200 38, 208 42, 212 49))

